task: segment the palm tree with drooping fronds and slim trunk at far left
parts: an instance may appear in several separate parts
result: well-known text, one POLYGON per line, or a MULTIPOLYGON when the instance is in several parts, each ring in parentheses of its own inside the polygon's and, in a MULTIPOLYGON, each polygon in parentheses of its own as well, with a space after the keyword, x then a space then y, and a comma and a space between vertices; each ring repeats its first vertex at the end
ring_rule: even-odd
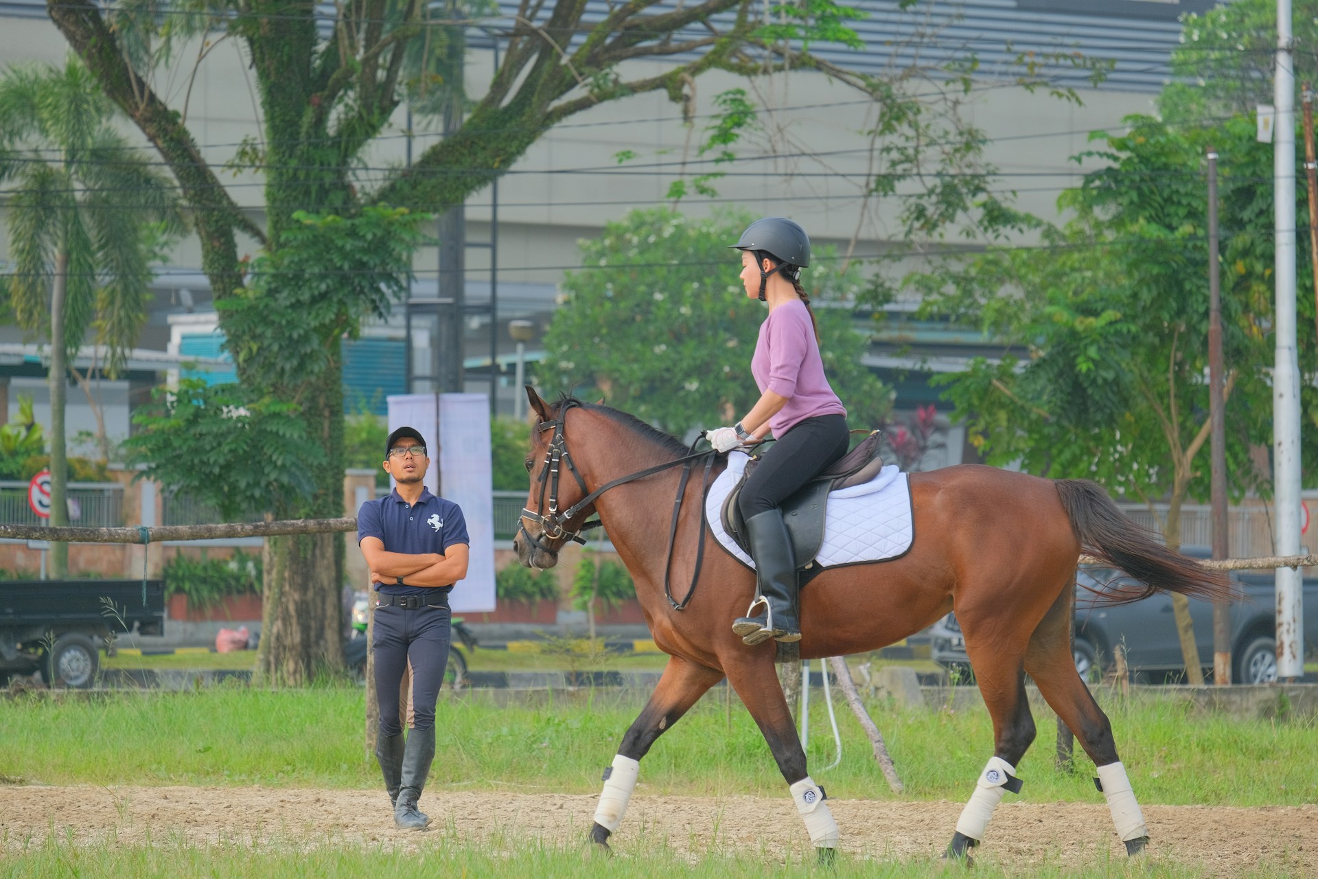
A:
MULTIPOLYGON (((150 295, 150 264, 182 232, 171 181, 113 127, 117 108, 75 55, 0 76, 0 186, 8 186, 14 319, 50 343, 50 523, 67 525, 67 364, 88 331, 123 368, 150 295)), ((51 551, 66 576, 69 544, 51 551)))

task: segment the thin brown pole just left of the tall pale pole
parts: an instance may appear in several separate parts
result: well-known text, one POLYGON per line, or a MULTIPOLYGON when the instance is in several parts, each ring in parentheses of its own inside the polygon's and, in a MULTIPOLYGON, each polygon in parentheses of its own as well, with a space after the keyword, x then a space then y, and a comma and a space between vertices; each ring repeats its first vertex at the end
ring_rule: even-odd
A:
MULTIPOLYGON (((1218 153, 1209 148, 1209 430, 1213 460, 1213 557, 1230 557, 1227 422, 1222 368, 1222 283, 1218 271, 1218 153)), ((1231 683, 1231 605, 1213 602, 1213 683, 1231 683)))

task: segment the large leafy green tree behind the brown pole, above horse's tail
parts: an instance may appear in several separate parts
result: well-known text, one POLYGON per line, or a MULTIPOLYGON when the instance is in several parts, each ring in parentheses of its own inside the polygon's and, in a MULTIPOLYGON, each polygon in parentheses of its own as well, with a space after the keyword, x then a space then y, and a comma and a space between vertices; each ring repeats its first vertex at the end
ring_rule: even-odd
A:
MULTIPOLYGON (((1108 162, 1068 191, 1062 227, 1043 245, 991 249, 919 278, 927 308, 978 322, 1028 345, 1027 357, 978 360, 946 378, 970 440, 992 464, 1087 477, 1152 509, 1181 542, 1182 503, 1209 494, 1206 146, 1220 153, 1222 315, 1227 368, 1227 472, 1232 493, 1268 490, 1251 451, 1272 436, 1272 150, 1235 117, 1213 129, 1136 116, 1089 154, 1108 162)), ((1309 274, 1311 266, 1302 266, 1309 274)), ((1301 297, 1305 460, 1313 478, 1318 357, 1313 302, 1301 297), (1309 336, 1307 339, 1305 336, 1309 336)), ((1185 605, 1178 625, 1189 626, 1185 605)), ((1184 630, 1184 629, 1182 629, 1184 630)), ((1182 638, 1191 680, 1193 635, 1182 638)))

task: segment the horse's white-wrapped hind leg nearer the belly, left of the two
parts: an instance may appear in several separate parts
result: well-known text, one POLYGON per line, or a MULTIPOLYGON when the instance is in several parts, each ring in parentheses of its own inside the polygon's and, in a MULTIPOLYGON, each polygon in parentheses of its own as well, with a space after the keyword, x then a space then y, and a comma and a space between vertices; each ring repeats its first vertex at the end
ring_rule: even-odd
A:
MULTIPOLYGON (((962 627, 965 629, 965 623, 962 627)), ((1008 791, 1020 792, 1016 764, 1035 741, 1035 718, 1025 696, 1020 648, 1014 651, 1008 646, 1012 643, 1010 637, 1000 642, 977 642, 970 630, 966 630, 970 664, 975 669, 975 680, 988 716, 992 717, 994 751, 975 781, 974 793, 957 818, 957 832, 944 853, 945 858, 967 859, 970 849, 983 839, 985 829, 1002 797, 1008 791)))

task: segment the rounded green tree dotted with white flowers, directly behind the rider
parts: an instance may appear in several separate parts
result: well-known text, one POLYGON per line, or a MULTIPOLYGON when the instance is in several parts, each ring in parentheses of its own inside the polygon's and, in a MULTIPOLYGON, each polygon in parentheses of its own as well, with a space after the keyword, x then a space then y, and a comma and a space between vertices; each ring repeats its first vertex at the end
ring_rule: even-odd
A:
MULTIPOLYGON (((679 435, 729 423, 758 397, 750 357, 763 310, 747 302, 741 260, 728 249, 753 219, 638 210, 583 241, 589 268, 563 281, 568 298, 544 333, 540 382, 597 389, 609 405, 679 435)), ((851 310, 830 307, 854 298, 859 273, 840 273, 828 248, 812 262, 801 283, 829 381, 853 424, 880 424, 892 394, 861 365, 866 339, 851 328, 851 310)))

